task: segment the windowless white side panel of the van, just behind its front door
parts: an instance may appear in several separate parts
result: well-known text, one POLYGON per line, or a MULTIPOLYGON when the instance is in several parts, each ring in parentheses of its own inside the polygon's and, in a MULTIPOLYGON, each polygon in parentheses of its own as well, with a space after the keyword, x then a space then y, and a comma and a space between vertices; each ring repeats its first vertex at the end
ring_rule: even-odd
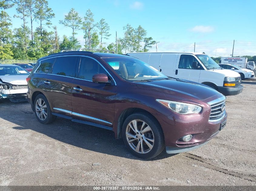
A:
POLYGON ((167 76, 175 76, 175 65, 178 58, 178 54, 163 53, 160 61, 161 72, 167 76))

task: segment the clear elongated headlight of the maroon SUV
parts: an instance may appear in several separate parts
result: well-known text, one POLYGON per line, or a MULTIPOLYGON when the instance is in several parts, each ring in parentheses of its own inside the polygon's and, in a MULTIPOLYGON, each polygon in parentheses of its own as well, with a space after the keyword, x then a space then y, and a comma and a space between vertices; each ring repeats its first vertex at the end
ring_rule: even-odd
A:
POLYGON ((158 100, 157 101, 163 104, 165 107, 180 113, 180 114, 191 114, 191 113, 199 113, 202 108, 197 105, 189 104, 189 103, 181 103, 176 101, 169 100, 158 100))

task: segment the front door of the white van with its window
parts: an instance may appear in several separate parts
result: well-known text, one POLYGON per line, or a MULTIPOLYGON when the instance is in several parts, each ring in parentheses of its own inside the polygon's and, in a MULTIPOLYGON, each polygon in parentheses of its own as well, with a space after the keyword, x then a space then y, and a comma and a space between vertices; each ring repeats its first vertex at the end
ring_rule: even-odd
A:
POLYGON ((198 59, 190 54, 180 54, 179 62, 176 64, 175 78, 199 82, 201 65, 198 59), (198 62, 200 68, 192 68, 192 63, 198 62))

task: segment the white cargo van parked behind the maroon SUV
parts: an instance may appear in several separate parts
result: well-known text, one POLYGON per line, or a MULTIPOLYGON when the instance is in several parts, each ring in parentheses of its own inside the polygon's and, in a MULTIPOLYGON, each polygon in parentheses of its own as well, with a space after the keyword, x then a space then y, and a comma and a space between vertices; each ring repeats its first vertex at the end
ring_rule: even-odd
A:
POLYGON ((222 69, 210 56, 202 53, 128 53, 173 78, 199 82, 224 95, 243 91, 241 76, 222 69))

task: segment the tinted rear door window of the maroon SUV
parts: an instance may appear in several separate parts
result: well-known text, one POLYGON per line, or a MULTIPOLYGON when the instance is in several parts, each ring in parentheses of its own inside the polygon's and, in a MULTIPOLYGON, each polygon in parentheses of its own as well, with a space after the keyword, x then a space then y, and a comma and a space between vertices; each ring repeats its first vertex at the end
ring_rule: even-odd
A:
POLYGON ((54 62, 52 74, 75 77, 78 56, 58 57, 54 62))

